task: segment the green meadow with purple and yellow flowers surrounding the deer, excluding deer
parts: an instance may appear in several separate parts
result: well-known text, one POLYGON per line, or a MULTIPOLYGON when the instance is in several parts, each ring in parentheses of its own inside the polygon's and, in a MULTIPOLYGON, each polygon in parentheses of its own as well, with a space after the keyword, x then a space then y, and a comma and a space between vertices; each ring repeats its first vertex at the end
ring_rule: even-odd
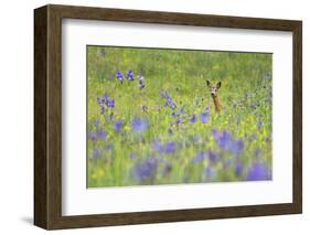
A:
POLYGON ((271 67, 267 53, 88 45, 88 188, 271 180, 271 67))

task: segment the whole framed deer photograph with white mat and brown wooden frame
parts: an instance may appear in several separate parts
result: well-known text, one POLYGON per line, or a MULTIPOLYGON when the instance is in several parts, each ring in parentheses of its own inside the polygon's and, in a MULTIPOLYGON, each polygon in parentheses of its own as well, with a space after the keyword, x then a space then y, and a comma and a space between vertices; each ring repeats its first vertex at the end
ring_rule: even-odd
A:
POLYGON ((302 23, 34 10, 34 224, 302 211, 302 23))

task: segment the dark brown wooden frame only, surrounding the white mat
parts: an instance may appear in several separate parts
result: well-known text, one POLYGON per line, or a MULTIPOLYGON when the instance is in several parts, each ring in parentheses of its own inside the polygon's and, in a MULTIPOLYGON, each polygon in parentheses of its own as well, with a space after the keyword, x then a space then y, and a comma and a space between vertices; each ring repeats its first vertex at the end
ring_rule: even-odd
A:
POLYGON ((46 229, 295 214, 302 211, 302 22, 257 18, 45 6, 34 10, 34 224, 46 229), (292 203, 62 215, 62 19, 292 32, 292 203))

